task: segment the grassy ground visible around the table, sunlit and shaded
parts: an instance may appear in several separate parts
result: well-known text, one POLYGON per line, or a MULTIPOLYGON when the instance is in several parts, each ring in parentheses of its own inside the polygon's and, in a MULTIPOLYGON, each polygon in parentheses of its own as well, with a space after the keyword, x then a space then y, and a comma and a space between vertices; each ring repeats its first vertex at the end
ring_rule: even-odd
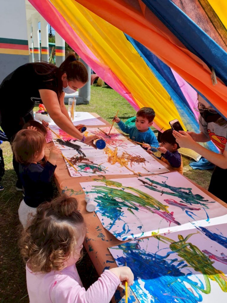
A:
MULTIPOLYGON (((117 92, 110 88, 97 86, 91 87, 90 104, 77 106, 78 111, 96 112, 109 122, 111 122, 118 109, 118 116, 123 121, 136 113, 117 92)), ((10 145, 4 142, 1 147, 5 160, 5 176, 1 184, 4 185, 5 190, 0 192, 0 303, 27 303, 29 300, 26 289, 25 265, 20 258, 17 245, 20 232, 18 207, 22 199, 22 193, 15 190, 16 175, 12 167, 10 145)), ((189 159, 183 157, 184 175, 207 189, 212 171, 192 170, 189 162, 189 159)), ((97 279, 97 273, 86 251, 84 254, 84 258, 77 268, 81 280, 87 288, 97 279)))

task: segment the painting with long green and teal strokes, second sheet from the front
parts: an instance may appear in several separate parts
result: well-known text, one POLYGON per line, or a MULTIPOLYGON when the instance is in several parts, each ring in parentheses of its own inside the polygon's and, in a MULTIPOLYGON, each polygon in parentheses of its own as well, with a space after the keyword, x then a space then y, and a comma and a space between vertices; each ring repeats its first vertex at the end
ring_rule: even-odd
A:
POLYGON ((227 221, 227 208, 178 172, 103 178, 81 187, 93 193, 102 225, 121 241, 227 221))

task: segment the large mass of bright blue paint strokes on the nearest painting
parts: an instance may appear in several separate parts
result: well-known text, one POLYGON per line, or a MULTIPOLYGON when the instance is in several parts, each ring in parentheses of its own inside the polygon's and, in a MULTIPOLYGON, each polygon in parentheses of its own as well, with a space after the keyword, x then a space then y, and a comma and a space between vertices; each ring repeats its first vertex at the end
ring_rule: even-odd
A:
POLYGON ((148 302, 147 293, 157 303, 197 303, 202 301, 202 295, 198 291, 198 288, 204 287, 202 282, 199 279, 198 282, 192 281, 190 272, 186 275, 180 270, 179 264, 183 264, 181 260, 179 262, 176 261, 176 258, 163 259, 163 256, 157 253, 147 252, 140 247, 140 241, 127 242, 112 249, 123 251, 123 256, 118 257, 116 262, 119 266, 123 266, 127 261, 127 266, 131 268, 134 275, 134 284, 130 287, 140 298, 141 303, 148 302), (143 281, 145 291, 141 288, 139 279, 143 281))

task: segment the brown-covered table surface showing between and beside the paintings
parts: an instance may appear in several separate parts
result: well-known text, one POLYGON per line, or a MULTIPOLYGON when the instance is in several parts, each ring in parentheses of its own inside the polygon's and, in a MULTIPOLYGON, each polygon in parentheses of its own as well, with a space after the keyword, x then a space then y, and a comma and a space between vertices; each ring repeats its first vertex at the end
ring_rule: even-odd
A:
MULTIPOLYGON (((100 121, 105 122, 106 125, 96 125, 96 127, 105 127, 105 126, 111 126, 110 123, 105 121, 103 118, 98 116, 95 113, 91 113, 96 118, 98 118, 100 121)), ((89 126, 92 127, 92 126, 89 126)), ((53 144, 53 143, 50 143, 53 144)), ((158 159, 157 159, 158 160, 158 159)), ((160 161, 160 160, 158 160, 160 161)), ((160 161, 162 165, 166 166, 170 171, 173 171, 171 167, 166 165, 166 163, 160 161)), ((148 174, 149 175, 149 174, 148 174)), ((114 178, 134 178, 135 175, 105 175, 107 179, 114 179, 114 178)), ((86 211, 86 202, 84 200, 85 194, 80 186, 80 182, 90 182, 93 181, 93 178, 101 179, 101 177, 98 176, 89 176, 89 177, 77 177, 73 178, 70 176, 69 171, 66 167, 65 161, 63 158, 58 159, 57 161, 57 168, 55 170, 54 174, 55 183, 58 187, 58 190, 60 193, 66 193, 67 195, 73 195, 77 198, 79 202, 79 208, 81 211, 81 214, 84 217, 84 220, 87 225, 87 234, 85 236, 84 241, 84 247, 86 248, 91 261, 94 264, 94 267, 97 270, 97 273, 99 275, 102 274, 104 269, 106 268, 113 268, 117 267, 112 255, 110 254, 108 247, 119 245, 120 243, 123 243, 122 241, 117 240, 109 231, 104 229, 102 226, 99 218, 95 214, 95 212, 87 212, 86 211)), ((190 180, 191 181, 191 180, 190 180)), ((192 182, 192 181, 191 181, 192 182)), ((194 183, 194 182, 192 182, 194 183)), ((216 198, 214 195, 210 194, 208 191, 206 191, 201 186, 194 183, 198 188, 200 188, 204 193, 209 195, 212 199, 215 199, 219 203, 221 203, 223 206, 227 208, 226 203, 216 198)), ((133 291, 128 288, 128 295, 134 296, 133 291)), ((120 297, 124 298, 124 287, 119 286, 117 292, 115 293, 115 296, 113 297, 113 302, 120 302, 120 297)), ((135 297, 135 303, 138 302, 137 298, 135 297)))

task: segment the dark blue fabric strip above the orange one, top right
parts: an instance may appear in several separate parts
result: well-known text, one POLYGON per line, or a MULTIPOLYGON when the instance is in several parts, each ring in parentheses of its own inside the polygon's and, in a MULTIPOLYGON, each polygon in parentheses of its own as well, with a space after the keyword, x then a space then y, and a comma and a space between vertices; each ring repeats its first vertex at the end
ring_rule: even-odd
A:
POLYGON ((171 0, 143 0, 144 4, 186 46, 215 69, 227 85, 227 53, 171 0))

